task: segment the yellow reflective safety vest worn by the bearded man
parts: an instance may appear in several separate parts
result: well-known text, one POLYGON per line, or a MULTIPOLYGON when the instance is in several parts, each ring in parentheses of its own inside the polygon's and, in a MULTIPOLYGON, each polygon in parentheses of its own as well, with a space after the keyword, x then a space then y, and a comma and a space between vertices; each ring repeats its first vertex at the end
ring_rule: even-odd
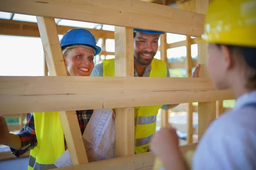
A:
MULTIPOLYGON (((103 60, 103 76, 115 76, 115 60, 103 60)), ((166 77, 166 63, 160 59, 153 59, 149 77, 166 77)), ((151 136, 154 134, 157 125, 157 113, 162 105, 134 107, 134 130, 135 130, 135 153, 148 152, 151 136)))

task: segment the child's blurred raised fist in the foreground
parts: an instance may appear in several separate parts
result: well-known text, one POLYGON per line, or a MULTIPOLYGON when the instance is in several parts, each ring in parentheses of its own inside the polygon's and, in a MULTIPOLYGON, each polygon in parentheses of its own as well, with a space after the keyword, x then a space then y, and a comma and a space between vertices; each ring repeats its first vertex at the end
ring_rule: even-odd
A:
POLYGON ((172 127, 161 127, 151 138, 150 149, 161 159, 172 157, 179 151, 179 139, 176 130, 172 127))

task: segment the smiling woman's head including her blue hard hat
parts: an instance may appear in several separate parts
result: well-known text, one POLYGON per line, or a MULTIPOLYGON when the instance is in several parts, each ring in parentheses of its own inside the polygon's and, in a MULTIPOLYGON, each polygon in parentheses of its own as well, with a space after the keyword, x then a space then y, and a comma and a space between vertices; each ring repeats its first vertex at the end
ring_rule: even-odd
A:
POLYGON ((94 56, 101 52, 93 34, 84 28, 67 31, 61 39, 61 49, 70 76, 90 76, 94 56))

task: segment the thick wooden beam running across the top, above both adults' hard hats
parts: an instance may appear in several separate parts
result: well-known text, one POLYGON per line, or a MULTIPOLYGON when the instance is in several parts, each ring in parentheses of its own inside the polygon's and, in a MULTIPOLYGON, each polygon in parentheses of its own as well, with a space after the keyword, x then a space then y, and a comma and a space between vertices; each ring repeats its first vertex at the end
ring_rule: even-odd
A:
POLYGON ((194 37, 200 37, 204 29, 203 14, 140 0, 44 0, 43 3, 34 0, 2 0, 0 11, 159 30, 194 37))

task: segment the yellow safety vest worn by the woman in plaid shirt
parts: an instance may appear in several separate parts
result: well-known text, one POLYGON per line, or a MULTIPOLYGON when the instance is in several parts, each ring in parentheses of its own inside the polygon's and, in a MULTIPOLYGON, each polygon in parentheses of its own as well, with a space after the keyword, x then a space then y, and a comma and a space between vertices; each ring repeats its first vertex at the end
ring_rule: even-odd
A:
POLYGON ((33 113, 37 146, 30 150, 28 170, 56 168, 54 162, 64 153, 64 133, 58 112, 33 113))

